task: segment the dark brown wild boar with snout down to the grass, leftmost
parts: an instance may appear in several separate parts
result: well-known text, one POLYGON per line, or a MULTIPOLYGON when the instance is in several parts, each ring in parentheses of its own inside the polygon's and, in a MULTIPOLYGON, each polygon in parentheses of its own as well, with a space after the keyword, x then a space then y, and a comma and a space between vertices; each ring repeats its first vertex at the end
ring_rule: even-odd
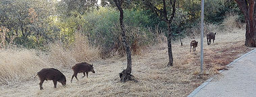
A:
MULTIPOLYGON (((63 86, 66 85, 66 77, 61 71, 54 68, 45 68, 37 73, 40 79, 40 90, 43 90, 43 82, 45 80, 53 80, 54 88, 57 86, 57 82, 60 82, 63 86)), ((36 77, 36 76, 35 76, 36 77)))

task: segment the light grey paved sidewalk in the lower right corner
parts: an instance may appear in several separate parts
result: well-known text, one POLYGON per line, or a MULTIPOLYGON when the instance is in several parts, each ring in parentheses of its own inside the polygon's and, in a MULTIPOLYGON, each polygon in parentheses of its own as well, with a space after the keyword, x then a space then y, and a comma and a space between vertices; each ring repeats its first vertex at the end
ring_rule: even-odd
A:
POLYGON ((256 97, 256 49, 230 63, 228 69, 222 71, 220 77, 203 83, 189 96, 256 97))

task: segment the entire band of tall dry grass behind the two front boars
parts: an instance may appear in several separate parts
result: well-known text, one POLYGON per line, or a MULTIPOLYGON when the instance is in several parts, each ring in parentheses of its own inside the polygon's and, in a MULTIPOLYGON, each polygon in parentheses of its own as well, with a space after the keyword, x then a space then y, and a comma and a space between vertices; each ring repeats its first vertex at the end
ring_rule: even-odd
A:
POLYGON ((86 36, 76 34, 74 44, 66 48, 63 43, 49 44, 49 51, 12 46, 0 49, 0 84, 24 81, 46 68, 70 69, 78 62, 99 59, 100 49, 88 43, 86 36))

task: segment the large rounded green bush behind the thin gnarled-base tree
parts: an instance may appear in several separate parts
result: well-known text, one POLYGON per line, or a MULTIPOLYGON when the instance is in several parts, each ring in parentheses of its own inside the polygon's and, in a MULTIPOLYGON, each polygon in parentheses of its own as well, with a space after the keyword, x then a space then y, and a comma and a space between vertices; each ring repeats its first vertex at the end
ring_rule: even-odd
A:
MULTIPOLYGON (((122 37, 119 25, 119 11, 111 8, 101 7, 98 10, 92 11, 86 15, 82 15, 85 20, 82 25, 83 32, 88 36, 88 39, 96 45, 103 47, 103 52, 109 52, 122 46, 122 37)), ((153 40, 147 37, 149 34, 142 24, 149 24, 149 18, 140 10, 124 10, 124 24, 126 26, 126 35, 128 42, 132 44, 134 39, 141 41, 153 40), (138 31, 139 30, 139 31, 138 31)), ((147 42, 144 42, 146 44, 147 42)))

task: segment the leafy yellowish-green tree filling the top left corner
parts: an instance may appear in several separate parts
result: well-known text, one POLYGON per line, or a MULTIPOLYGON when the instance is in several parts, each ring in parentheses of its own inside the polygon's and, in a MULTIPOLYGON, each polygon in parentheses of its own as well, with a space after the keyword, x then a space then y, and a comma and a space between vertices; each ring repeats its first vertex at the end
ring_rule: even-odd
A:
MULTIPOLYGON (((47 0, 1 0, 0 25, 9 30, 5 34, 7 43, 14 42, 28 46, 32 36, 46 38, 45 33, 51 29, 46 22, 53 15, 53 4, 47 0)), ((32 45, 31 45, 32 46, 32 45)))

